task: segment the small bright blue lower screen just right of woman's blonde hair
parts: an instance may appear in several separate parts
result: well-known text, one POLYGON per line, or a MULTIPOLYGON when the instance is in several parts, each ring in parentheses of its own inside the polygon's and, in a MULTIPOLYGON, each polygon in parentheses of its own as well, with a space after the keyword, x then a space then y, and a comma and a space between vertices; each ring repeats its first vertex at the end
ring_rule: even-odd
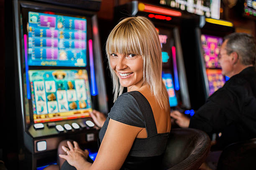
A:
POLYGON ((170 106, 171 107, 177 106, 178 101, 177 101, 175 91, 174 91, 172 74, 162 73, 162 78, 163 78, 164 84, 165 84, 167 92, 168 92, 170 106))

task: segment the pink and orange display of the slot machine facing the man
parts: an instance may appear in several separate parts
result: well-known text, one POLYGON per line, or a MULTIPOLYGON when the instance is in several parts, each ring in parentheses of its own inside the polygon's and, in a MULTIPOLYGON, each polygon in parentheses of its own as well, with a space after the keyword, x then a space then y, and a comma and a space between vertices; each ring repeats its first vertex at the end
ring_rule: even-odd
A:
POLYGON ((221 73, 218 56, 223 43, 222 37, 201 35, 202 48, 204 51, 206 74, 209 82, 209 95, 225 84, 225 77, 221 73))

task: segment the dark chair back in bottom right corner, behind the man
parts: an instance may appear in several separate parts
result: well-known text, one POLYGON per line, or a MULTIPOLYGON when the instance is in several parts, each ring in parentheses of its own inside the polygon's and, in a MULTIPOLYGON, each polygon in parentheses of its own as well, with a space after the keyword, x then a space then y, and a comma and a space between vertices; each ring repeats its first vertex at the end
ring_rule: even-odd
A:
POLYGON ((224 148, 217 170, 256 170, 256 138, 224 148))

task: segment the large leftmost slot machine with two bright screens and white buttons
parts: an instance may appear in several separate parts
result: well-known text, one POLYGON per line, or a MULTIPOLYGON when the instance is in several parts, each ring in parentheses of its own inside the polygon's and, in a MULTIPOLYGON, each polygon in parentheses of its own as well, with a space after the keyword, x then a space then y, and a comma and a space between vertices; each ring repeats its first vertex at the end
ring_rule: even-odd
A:
POLYGON ((97 148, 90 112, 108 112, 96 15, 100 4, 13 1, 21 169, 56 160, 61 140, 97 148))

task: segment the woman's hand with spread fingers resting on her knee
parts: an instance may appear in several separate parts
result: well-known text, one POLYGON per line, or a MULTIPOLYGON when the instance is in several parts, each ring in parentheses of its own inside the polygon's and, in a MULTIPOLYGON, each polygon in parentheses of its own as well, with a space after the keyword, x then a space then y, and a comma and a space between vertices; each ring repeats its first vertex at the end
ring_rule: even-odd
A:
MULTIPOLYGON (((59 155, 60 158, 67 160, 67 162, 76 167, 77 169, 81 169, 85 164, 88 164, 87 158, 89 155, 88 150, 80 149, 77 142, 74 141, 74 146, 70 141, 67 141, 68 148, 62 146, 62 149, 67 153, 67 155, 59 155)), ((85 165, 86 166, 86 165, 85 165)))

